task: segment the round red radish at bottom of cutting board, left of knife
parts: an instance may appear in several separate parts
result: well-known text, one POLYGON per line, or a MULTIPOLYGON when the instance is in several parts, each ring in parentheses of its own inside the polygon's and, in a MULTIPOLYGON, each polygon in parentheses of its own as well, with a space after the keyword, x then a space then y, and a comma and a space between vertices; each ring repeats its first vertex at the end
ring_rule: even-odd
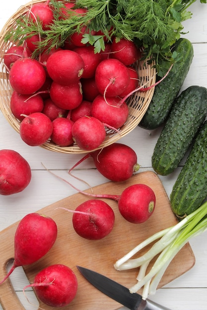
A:
POLYGON ((64 307, 75 298, 78 282, 75 273, 68 266, 54 264, 42 269, 34 278, 33 287, 37 297, 51 307, 64 307))

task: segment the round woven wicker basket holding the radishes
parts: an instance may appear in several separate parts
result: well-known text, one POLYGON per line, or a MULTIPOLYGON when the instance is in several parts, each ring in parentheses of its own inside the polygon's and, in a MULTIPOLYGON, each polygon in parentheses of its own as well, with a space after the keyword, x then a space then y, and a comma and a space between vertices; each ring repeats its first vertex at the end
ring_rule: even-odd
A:
MULTIPOLYGON (((10 123, 10 125, 19 132, 20 122, 17 120, 10 110, 10 97, 12 94, 12 88, 9 83, 8 73, 6 72, 6 68, 3 63, 3 55, 4 53, 14 45, 12 42, 5 42, 4 36, 10 29, 14 29, 16 25, 17 18, 24 14, 32 3, 35 2, 44 2, 43 1, 33 1, 29 2, 24 6, 21 6, 15 14, 13 14, 10 19, 6 22, 4 27, 0 32, 0 109, 10 123)), ((15 42, 17 45, 18 42, 15 42)), ((140 79, 140 85, 144 85, 144 87, 149 87, 155 83, 155 75, 156 71, 154 68, 149 65, 144 64, 144 62, 136 63, 136 70, 138 71, 138 76, 140 79)), ((154 93, 154 87, 145 92, 137 92, 133 96, 131 96, 127 103, 129 106, 129 116, 126 123, 120 128, 120 133, 117 133, 113 130, 107 130, 105 141, 99 146, 98 149, 102 149, 114 142, 117 142, 120 138, 126 136, 130 133, 135 127, 137 127, 138 123, 141 121, 144 113, 146 112, 148 105, 151 101, 151 98, 154 93)), ((48 141, 41 145, 42 148, 61 152, 61 153, 87 153, 88 151, 81 150, 77 145, 69 146, 69 147, 60 147, 48 141)))

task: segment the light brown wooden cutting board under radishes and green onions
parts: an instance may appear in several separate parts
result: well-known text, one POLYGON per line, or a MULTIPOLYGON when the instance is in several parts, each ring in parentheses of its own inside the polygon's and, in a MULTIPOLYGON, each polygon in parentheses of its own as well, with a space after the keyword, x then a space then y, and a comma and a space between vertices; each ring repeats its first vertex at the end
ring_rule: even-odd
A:
MULTIPOLYGON (((132 224, 120 215, 115 201, 104 199, 114 209, 116 220, 113 231, 99 241, 90 241, 79 237, 72 227, 72 213, 60 208, 57 209, 58 207, 75 209, 80 203, 91 199, 90 197, 77 193, 38 211, 38 213, 51 216, 56 221, 58 237, 53 248, 44 258, 29 266, 24 266, 29 281, 33 282, 34 276, 42 268, 55 263, 68 265, 75 272, 78 280, 78 291, 75 299, 69 306, 55 309, 118 309, 120 304, 89 284, 76 269, 76 265, 100 272, 126 287, 131 287, 136 283, 138 269, 117 271, 114 269, 114 262, 155 232, 177 223, 177 219, 170 208, 167 194, 159 177, 154 172, 140 172, 121 183, 108 182, 98 185, 93 188, 93 192, 95 194, 120 195, 126 187, 136 183, 146 184, 154 190, 156 195, 154 213, 145 223, 132 224)), ((13 240, 17 225, 18 222, 0 232, 0 279, 6 273, 7 261, 14 257, 13 240)), ((168 266, 159 287, 179 277, 191 269, 194 264, 195 257, 190 245, 187 243, 168 266)), ((172 296, 172 298, 174 297, 172 296)), ((24 309, 9 280, 6 280, 0 286, 0 303, 4 310, 24 309)), ((54 309, 41 302, 40 307, 45 310, 54 309)))

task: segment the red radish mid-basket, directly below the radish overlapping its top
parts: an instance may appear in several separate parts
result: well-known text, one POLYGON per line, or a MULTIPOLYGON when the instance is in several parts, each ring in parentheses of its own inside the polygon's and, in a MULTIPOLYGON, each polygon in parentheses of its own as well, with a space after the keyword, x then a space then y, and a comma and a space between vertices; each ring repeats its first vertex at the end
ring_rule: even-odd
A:
POLYGON ((62 85, 53 82, 50 87, 50 98, 62 109, 74 109, 83 99, 81 83, 74 82, 69 85, 62 85))

